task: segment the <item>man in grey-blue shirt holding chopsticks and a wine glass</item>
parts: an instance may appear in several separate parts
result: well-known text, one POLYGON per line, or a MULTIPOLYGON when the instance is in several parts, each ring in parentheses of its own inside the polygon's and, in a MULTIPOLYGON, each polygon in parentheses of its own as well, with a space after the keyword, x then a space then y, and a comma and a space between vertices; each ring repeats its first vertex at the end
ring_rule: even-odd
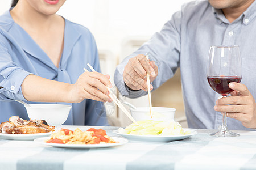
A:
POLYGON ((152 90, 172 78, 180 67, 190 128, 218 129, 222 111, 228 113, 229 129, 253 130, 256 128, 255 28, 254 0, 186 3, 160 32, 122 61, 115 70, 115 84, 123 96, 139 97, 147 94, 146 73, 150 74, 152 90), (242 81, 229 84, 236 91, 225 99, 220 99, 220 94, 207 82, 210 45, 240 46, 242 81), (147 52, 150 62, 144 56, 147 52))

